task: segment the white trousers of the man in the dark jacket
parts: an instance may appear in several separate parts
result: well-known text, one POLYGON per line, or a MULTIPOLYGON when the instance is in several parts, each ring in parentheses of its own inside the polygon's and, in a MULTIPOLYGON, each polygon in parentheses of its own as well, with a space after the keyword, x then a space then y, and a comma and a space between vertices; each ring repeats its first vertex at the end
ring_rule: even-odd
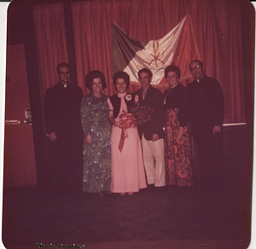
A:
POLYGON ((148 184, 154 184, 155 187, 166 186, 164 139, 147 141, 143 135, 142 146, 148 184))

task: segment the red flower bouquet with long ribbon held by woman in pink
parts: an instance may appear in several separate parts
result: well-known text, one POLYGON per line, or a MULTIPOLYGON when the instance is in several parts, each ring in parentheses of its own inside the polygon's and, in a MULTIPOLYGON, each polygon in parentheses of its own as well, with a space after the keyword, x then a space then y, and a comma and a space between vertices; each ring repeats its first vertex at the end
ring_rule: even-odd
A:
POLYGON ((129 113, 122 113, 119 116, 119 125, 124 125, 119 142, 120 152, 122 152, 125 138, 128 136, 126 129, 134 127, 135 125, 145 124, 151 120, 153 113, 154 110, 151 107, 138 104, 135 107, 132 107, 129 113))

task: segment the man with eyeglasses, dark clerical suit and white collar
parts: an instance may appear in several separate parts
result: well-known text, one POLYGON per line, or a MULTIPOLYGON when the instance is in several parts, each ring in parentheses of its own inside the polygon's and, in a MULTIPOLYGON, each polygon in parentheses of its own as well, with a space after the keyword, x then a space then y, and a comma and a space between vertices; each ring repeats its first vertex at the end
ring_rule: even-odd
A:
POLYGON ((210 182, 217 183, 223 173, 224 96, 218 81, 205 74, 201 61, 191 61, 189 70, 195 78, 187 86, 189 125, 197 146, 201 182, 209 185, 210 182))

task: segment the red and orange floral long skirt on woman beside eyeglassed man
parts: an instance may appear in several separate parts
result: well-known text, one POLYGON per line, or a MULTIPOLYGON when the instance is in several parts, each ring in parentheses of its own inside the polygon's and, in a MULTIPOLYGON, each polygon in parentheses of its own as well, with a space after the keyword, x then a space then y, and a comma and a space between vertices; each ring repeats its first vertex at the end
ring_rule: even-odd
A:
POLYGON ((179 122, 178 109, 168 108, 165 113, 165 159, 166 184, 192 186, 191 140, 188 127, 183 130, 183 138, 177 139, 179 122))

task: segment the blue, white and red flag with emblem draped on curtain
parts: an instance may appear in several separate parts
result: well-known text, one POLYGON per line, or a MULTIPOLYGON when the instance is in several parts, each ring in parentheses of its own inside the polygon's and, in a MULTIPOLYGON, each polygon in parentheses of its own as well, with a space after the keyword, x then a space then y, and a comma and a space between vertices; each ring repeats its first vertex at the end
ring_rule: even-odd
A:
POLYGON ((137 72, 147 67, 153 72, 151 84, 165 84, 165 68, 175 64, 181 70, 181 81, 191 77, 189 63, 199 59, 190 15, 186 15, 171 32, 159 40, 141 42, 128 37, 112 23, 112 75, 125 71, 131 82, 138 82, 137 72))

